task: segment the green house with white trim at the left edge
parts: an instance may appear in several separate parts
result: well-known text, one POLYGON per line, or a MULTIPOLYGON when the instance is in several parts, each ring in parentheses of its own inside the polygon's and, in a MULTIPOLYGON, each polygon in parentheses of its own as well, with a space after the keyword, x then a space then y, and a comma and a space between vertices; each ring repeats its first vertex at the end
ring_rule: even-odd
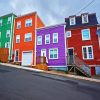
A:
POLYGON ((0 16, 0 48, 9 48, 9 60, 12 60, 15 17, 16 15, 13 13, 0 16))

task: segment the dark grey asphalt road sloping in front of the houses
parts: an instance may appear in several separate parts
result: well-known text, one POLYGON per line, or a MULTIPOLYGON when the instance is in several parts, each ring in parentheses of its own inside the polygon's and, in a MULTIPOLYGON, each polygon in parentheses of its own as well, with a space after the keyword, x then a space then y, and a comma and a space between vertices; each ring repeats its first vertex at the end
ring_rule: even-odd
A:
POLYGON ((86 83, 80 80, 46 76, 0 65, 0 100, 100 100, 99 84, 92 89, 77 84, 86 83))

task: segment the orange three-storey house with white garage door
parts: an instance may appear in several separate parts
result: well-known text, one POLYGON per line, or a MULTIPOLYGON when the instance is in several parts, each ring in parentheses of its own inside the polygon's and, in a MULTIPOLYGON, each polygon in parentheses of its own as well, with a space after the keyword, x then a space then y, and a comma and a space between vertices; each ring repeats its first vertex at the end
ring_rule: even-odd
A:
POLYGON ((14 62, 21 62, 23 66, 34 65, 36 62, 36 28, 44 23, 32 12, 15 18, 13 52, 14 62))

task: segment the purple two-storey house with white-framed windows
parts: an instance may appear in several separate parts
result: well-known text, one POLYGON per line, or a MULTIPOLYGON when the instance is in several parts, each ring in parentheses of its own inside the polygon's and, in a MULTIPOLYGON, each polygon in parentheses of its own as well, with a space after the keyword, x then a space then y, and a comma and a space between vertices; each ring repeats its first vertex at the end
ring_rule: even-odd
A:
POLYGON ((64 24, 43 27, 36 31, 36 56, 45 56, 49 69, 67 70, 64 24))

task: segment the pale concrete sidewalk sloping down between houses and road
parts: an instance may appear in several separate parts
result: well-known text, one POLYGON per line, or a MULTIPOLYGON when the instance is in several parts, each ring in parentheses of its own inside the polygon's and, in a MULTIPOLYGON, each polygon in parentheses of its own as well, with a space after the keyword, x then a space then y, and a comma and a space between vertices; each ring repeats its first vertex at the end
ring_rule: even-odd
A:
POLYGON ((100 79, 96 79, 96 78, 87 78, 87 77, 82 77, 82 76, 77 76, 77 75, 70 75, 70 74, 60 73, 57 71, 43 71, 43 70, 39 70, 39 69, 35 69, 35 68, 12 65, 12 64, 8 64, 8 63, 0 63, 0 64, 4 65, 4 66, 14 67, 14 68, 18 68, 18 69, 24 69, 24 70, 28 70, 28 71, 42 72, 42 73, 47 73, 47 74, 51 74, 51 75, 57 75, 57 76, 63 76, 63 77, 68 77, 68 78, 74 78, 74 79, 80 79, 80 80, 100 83, 100 79))

